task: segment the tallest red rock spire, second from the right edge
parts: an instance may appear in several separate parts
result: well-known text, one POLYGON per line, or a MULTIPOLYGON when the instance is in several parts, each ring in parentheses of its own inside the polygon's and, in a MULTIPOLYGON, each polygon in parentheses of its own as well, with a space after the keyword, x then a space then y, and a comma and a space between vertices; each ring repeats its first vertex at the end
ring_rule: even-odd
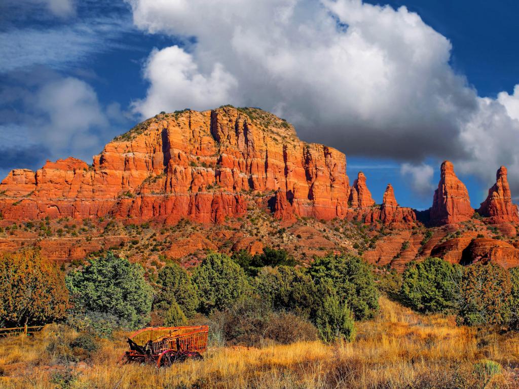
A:
POLYGON ((459 223, 469 220, 474 214, 470 206, 466 186, 454 173, 452 162, 444 161, 441 178, 430 209, 430 223, 433 226, 459 223))

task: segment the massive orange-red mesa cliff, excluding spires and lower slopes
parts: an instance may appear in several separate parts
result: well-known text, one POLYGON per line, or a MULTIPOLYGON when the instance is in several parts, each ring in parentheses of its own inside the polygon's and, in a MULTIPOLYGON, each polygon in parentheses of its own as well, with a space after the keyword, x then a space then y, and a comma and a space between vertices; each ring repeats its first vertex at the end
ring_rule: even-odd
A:
POLYGON ((225 106, 148 119, 108 143, 92 166, 68 158, 13 170, 0 184, 0 215, 208 223, 267 195, 279 217, 332 219, 345 217, 348 192, 342 152, 300 141, 261 109, 225 106))

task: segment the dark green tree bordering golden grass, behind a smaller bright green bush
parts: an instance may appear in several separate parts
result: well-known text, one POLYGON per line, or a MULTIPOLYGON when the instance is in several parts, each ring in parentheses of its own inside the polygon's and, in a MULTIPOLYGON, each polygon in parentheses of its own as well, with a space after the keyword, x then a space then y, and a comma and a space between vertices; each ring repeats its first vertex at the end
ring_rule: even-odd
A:
POLYGON ((329 255, 317 258, 309 269, 317 285, 331 282, 339 301, 344 301, 356 319, 367 319, 378 311, 378 291, 373 273, 357 256, 329 255))

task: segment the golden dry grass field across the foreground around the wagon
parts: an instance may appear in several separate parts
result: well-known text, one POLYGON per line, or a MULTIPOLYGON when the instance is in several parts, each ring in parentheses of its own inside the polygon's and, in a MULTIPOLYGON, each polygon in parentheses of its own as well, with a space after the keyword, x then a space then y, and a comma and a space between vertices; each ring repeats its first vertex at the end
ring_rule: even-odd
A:
POLYGON ((118 365, 124 334, 77 354, 61 344, 76 334, 54 326, 34 338, 0 340, 0 388, 517 388, 519 335, 456 326, 386 298, 352 343, 210 348, 201 362, 171 368, 118 365))

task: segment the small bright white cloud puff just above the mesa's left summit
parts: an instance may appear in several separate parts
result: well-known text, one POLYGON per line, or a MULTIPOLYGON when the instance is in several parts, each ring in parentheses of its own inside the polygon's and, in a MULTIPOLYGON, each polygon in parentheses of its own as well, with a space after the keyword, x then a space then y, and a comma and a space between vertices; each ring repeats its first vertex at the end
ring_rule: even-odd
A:
POLYGON ((230 101, 230 91, 236 87, 236 80, 220 63, 214 64, 210 74, 203 75, 192 55, 177 46, 154 50, 146 62, 144 77, 151 84, 146 99, 133 103, 144 116, 169 107, 205 109, 221 105, 222 101, 230 101))

